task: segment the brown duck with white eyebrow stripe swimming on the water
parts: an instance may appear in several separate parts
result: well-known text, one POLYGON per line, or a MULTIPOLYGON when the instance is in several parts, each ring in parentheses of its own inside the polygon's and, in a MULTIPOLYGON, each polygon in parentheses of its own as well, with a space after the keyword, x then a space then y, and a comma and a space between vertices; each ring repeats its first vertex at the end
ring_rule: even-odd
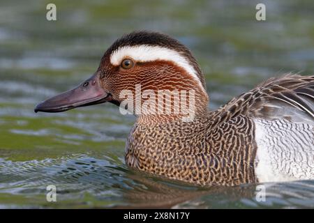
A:
POLYGON ((314 178, 314 76, 272 77, 210 110, 188 47, 164 33, 134 31, 105 51, 94 75, 34 111, 104 102, 135 115, 126 140, 130 169, 203 186, 314 178))

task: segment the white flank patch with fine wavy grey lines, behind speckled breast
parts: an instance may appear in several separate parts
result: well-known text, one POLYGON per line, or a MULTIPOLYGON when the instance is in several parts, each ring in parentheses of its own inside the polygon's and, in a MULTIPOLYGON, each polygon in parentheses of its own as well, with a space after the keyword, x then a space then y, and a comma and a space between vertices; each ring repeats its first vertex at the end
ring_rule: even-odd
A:
POLYGON ((255 122, 255 175, 260 182, 314 178, 314 126, 285 119, 255 122))

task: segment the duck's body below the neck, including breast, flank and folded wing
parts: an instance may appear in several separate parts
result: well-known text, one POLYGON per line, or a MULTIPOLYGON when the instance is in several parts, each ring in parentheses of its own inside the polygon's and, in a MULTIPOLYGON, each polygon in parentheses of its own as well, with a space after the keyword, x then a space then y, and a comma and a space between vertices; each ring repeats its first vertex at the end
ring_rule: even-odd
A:
POLYGON ((306 91, 310 93, 306 95, 308 98, 297 95, 295 103, 308 100, 313 110, 313 89, 314 77, 285 75, 269 79, 217 111, 197 116, 193 123, 172 121, 149 127, 135 124, 128 138, 126 163, 130 167, 200 185, 255 183, 258 181, 255 168, 259 162, 255 138, 255 123, 258 122, 271 126, 265 132, 268 134, 262 137, 267 141, 269 154, 276 154, 272 162, 280 175, 278 180, 283 180, 283 175, 289 180, 314 178, 314 118, 307 109, 295 107, 292 100, 282 99, 282 95, 306 91), (276 113, 274 109, 281 112, 276 113), (292 109, 297 110, 291 114, 292 109), (301 120, 301 117, 304 118, 301 120), (283 123, 282 128, 272 126, 278 122, 283 123), (290 144, 274 144, 274 139, 283 136, 281 131, 285 132, 282 140, 290 144), (297 145, 291 144, 294 142, 290 140, 292 134, 300 141, 304 140, 299 151, 295 150, 297 145), (303 153, 304 159, 296 160, 297 153, 303 153), (294 164, 300 168, 289 172, 294 164))

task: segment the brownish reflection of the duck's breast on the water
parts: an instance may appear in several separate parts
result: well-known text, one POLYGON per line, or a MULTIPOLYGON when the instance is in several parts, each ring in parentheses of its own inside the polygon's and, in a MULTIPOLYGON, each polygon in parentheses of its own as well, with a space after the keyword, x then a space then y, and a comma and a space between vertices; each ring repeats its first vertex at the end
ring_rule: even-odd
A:
POLYGON ((133 179, 137 184, 132 190, 126 190, 123 193, 126 205, 115 206, 114 208, 213 208, 202 201, 204 196, 229 197, 230 200, 239 198, 248 198, 254 196, 255 190, 246 187, 195 187, 193 185, 170 182, 163 179, 148 176, 139 172, 128 174, 128 178, 133 179), (189 206, 189 203, 192 206, 189 206), (181 206, 182 205, 182 206, 181 206))

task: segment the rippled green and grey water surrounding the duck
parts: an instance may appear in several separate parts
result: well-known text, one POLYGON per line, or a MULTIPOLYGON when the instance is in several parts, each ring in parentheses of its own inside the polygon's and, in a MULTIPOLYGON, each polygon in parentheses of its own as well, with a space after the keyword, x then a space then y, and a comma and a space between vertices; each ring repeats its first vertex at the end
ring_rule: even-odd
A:
POLYGON ((0 208, 314 208, 314 180, 194 187, 128 169, 132 116, 114 105, 34 114, 36 103, 96 70, 113 40, 139 29, 188 45, 207 79, 210 108, 284 72, 314 73, 314 3, 263 1, 0 1, 0 208), (46 201, 47 185, 57 202, 46 201), (257 190, 256 190, 257 189, 257 190), (258 196, 257 196, 258 197, 258 196))

